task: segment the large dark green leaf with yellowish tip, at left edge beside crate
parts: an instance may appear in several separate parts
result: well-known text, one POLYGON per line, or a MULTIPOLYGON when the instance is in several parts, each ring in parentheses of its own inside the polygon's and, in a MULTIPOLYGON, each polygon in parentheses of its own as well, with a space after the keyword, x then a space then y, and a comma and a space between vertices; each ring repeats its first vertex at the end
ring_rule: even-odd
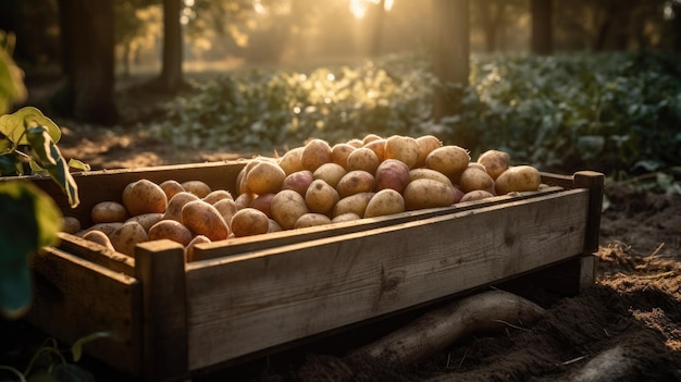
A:
POLYGON ((61 211, 45 192, 26 181, 0 183, 0 311, 10 319, 30 305, 30 255, 58 241, 61 211))

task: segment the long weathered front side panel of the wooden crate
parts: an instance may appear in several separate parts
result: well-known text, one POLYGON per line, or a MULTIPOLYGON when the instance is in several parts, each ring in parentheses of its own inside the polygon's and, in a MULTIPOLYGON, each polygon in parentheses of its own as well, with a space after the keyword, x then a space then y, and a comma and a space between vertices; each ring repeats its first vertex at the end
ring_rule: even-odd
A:
POLYGON ((191 266, 198 369, 578 256, 585 190, 191 266))

